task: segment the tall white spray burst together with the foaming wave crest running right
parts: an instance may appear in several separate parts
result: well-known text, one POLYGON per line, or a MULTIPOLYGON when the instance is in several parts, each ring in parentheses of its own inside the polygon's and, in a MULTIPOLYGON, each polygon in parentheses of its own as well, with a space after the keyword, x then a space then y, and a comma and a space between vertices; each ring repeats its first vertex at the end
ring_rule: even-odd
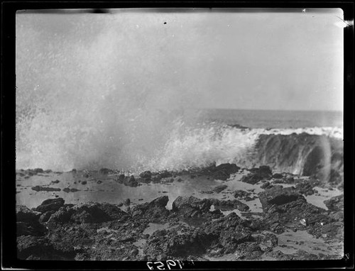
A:
POLYGON ((203 35, 173 39, 156 14, 144 14, 147 26, 136 24, 142 13, 16 16, 17 168, 256 165, 251 154, 262 134, 342 138, 331 127, 243 130, 204 123, 186 109, 210 99, 208 80, 199 73, 202 62, 181 50, 187 43, 198 55, 203 35))

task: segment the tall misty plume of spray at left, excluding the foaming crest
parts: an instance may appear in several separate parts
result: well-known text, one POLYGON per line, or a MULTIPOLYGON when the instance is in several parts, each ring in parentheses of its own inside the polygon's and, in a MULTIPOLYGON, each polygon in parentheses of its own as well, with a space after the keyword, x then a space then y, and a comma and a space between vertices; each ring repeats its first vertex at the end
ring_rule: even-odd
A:
POLYGON ((146 16, 16 16, 16 167, 129 169, 163 148, 201 92, 146 16))

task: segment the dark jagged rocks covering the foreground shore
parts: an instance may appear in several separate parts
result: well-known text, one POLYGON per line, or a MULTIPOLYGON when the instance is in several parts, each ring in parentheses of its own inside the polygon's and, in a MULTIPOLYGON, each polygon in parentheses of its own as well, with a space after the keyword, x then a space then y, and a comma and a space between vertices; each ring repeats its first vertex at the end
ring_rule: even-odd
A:
MULTIPOLYGON (((43 170, 18 175, 49 174, 43 170)), ((82 172, 82 175, 89 172, 82 172)), ((328 184, 314 177, 273 174, 270 167, 251 170, 222 164, 184 172, 142 172, 114 175, 119 184, 136 189, 142 184, 219 179, 200 199, 182 195, 168 209, 168 196, 141 204, 84 202, 66 204, 62 197, 46 199, 28 209, 16 206, 18 258, 28 260, 321 260, 342 258, 343 195, 324 201, 327 209, 310 204, 315 187, 328 184), (257 193, 227 189, 230 177, 244 172, 241 182, 258 184, 257 193), (261 213, 247 204, 259 200, 261 213), (305 240, 302 240, 302 236, 305 240), (309 240, 315 245, 309 248, 309 240), (303 242, 303 243, 302 243, 303 242), (335 245, 337 244, 337 245, 335 245), (300 248, 300 249, 296 249, 300 248)), ((87 176, 89 177, 89 176, 87 176)), ((84 182, 83 180, 81 182, 84 182)), ((86 182, 86 181, 85 181, 86 182)), ((57 182, 58 183, 58 182, 57 182)), ((55 181, 54 181, 55 184, 55 181)), ((35 186, 35 189, 38 189, 35 186)), ((48 188, 48 187, 47 187, 48 188)), ((328 189, 333 189, 327 186, 328 189)), ((68 188, 70 189, 70 188, 68 188)), ((46 190, 45 192, 48 192, 46 190)), ((70 191, 69 191, 70 192, 70 191)))

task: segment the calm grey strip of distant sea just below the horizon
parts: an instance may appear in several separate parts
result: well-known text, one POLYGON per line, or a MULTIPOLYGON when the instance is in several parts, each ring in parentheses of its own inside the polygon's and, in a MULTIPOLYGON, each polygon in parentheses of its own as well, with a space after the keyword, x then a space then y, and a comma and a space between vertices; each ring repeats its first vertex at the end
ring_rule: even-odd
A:
POLYGON ((205 121, 248 128, 343 127, 343 114, 339 111, 202 109, 200 116, 205 121))

